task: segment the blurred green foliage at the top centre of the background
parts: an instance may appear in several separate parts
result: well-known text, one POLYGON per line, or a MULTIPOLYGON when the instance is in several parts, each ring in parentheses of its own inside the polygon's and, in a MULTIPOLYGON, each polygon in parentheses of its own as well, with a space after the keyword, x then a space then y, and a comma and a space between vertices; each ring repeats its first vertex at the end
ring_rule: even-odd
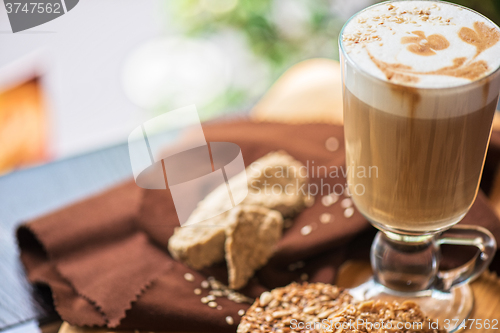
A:
MULTIPOLYGON (((278 71, 305 58, 337 57, 337 38, 343 20, 332 12, 332 1, 293 1, 296 9, 303 10, 299 22, 295 22, 303 31, 294 36, 284 30, 296 27, 279 25, 279 0, 176 1, 174 19, 187 36, 202 37, 228 28, 237 30, 244 34, 251 50, 278 71)), ((283 5, 292 4, 286 2, 283 5)), ((291 17, 291 25, 293 20, 291 17)))

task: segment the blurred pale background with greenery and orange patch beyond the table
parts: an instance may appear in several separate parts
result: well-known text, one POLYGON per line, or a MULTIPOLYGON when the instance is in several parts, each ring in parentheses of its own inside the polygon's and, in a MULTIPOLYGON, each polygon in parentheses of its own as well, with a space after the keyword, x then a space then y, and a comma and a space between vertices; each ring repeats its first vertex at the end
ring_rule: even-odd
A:
MULTIPOLYGON (((196 104, 242 112, 291 65, 338 59, 344 22, 374 0, 82 0, 13 34, 0 6, 0 174, 125 142, 196 104)), ((500 0, 456 0, 500 24, 500 0)))

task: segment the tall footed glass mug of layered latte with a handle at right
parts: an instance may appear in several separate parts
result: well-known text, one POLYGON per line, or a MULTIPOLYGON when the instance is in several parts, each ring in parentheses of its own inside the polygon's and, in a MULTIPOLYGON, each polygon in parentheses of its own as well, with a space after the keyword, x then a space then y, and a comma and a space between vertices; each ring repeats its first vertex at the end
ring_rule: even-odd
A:
MULTIPOLYGON (((407 7, 412 2, 417 3, 404 1, 407 7)), ((350 170, 347 180, 357 209, 380 230, 371 251, 374 277, 353 292, 363 299, 416 301, 453 331, 472 309, 468 283, 488 267, 496 251, 495 239, 488 230, 456 224, 467 214, 478 192, 500 91, 500 70, 490 67, 482 76, 480 72, 467 76, 467 70, 476 69, 483 51, 474 40, 467 39, 466 33, 475 32, 479 40, 481 24, 477 29, 474 23, 459 30, 460 20, 450 23, 446 17, 434 19, 432 9, 455 6, 460 12, 476 15, 489 27, 498 27, 470 9, 428 1, 418 17, 435 20, 436 27, 457 25, 460 31, 458 37, 433 34, 434 25, 425 27, 427 22, 419 24, 416 20, 415 27, 405 24, 405 13, 398 13, 402 3, 377 4, 356 14, 344 26, 339 42, 346 164, 350 170), (374 8, 381 8, 380 15, 366 19, 367 11, 374 8), (431 14, 425 12, 427 9, 431 14), (398 17, 402 17, 402 24, 398 17), (353 20, 360 22, 361 28, 347 33, 346 27, 353 20), (371 24, 365 24, 367 21, 371 24), (384 23, 389 27, 385 33, 399 38, 406 55, 389 56, 389 50, 384 59, 383 51, 377 55, 367 51, 368 43, 379 44, 370 44, 372 49, 383 47, 385 41, 374 31, 384 23), (474 58, 455 54, 453 59, 443 60, 452 66, 428 71, 412 67, 412 62, 418 67, 417 62, 437 59, 439 52, 452 52, 453 43, 462 42, 457 50, 470 53, 470 47, 476 47, 474 58), (363 43, 366 45, 352 47, 363 43), (353 56, 360 52, 367 56, 353 56), (405 56, 410 65, 396 63, 405 56), (363 61, 364 66, 360 63, 363 61), (386 77, 381 78, 380 73, 386 77), (451 77, 465 79, 450 86, 446 82, 451 77), (431 81, 419 87, 418 80, 431 81), (441 271, 442 244, 475 246, 478 253, 461 267, 441 271)), ((418 3, 422 6, 422 1, 418 3)), ((494 42, 490 40, 488 47, 494 42)))

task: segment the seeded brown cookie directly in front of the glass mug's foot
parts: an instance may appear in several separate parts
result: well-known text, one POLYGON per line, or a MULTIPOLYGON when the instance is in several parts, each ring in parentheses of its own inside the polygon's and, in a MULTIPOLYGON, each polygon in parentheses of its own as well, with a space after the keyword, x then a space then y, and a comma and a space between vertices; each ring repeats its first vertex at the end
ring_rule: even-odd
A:
POLYGON ((333 333, 344 324, 346 333, 446 333, 438 328, 438 322, 425 316, 420 307, 411 301, 401 304, 383 301, 365 301, 348 305, 327 318, 320 333, 333 333), (333 324, 333 325, 332 325, 333 324))

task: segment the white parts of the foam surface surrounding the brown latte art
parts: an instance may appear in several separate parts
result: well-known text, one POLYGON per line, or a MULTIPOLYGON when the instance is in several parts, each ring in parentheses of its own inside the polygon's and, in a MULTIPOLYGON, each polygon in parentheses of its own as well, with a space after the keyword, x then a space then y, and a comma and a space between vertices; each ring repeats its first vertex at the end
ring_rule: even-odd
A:
MULTIPOLYGON (((390 64, 410 66, 414 72, 432 72, 452 66, 453 59, 457 57, 465 57, 472 62, 483 60, 488 64, 488 70, 482 75, 486 76, 500 66, 500 42, 474 57, 476 47, 464 42, 459 37, 459 31, 463 27, 474 30, 475 22, 498 29, 491 21, 473 11, 444 2, 383 3, 370 7, 351 19, 344 28, 342 43, 348 57, 360 68, 384 80, 387 80, 386 75, 369 54, 390 64), (418 37, 414 34, 415 31, 422 31, 427 38, 435 34, 441 35, 448 40, 449 46, 442 50, 431 48, 430 52, 434 55, 430 56, 415 54, 408 50, 411 44, 429 44, 428 40, 402 43, 407 37, 418 37), (356 37, 366 37, 368 40, 355 43, 353 41, 356 37)), ((500 33, 500 29, 498 30, 500 33)), ((418 82, 410 85, 422 88, 452 87, 470 82, 466 78, 448 75, 415 76, 418 77, 418 82)))

